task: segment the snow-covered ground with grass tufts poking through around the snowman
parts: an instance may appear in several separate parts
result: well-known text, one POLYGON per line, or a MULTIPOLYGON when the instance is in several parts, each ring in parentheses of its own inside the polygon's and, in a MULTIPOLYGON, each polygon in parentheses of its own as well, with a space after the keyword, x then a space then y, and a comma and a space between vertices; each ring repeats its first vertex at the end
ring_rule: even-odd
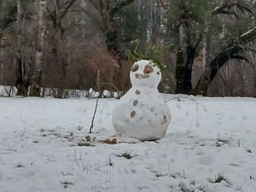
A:
POLYGON ((90 135, 95 99, 0 97, 0 191, 256 191, 256 99, 183 97, 145 143, 114 136, 116 99, 90 135))

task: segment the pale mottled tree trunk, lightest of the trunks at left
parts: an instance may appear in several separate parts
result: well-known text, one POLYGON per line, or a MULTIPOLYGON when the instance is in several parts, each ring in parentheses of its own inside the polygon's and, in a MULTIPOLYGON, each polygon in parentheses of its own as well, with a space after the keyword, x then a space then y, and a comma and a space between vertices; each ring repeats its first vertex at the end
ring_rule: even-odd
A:
POLYGON ((42 79, 42 66, 44 60, 44 33, 46 31, 46 0, 37 0, 38 5, 38 46, 36 47, 34 72, 29 96, 40 96, 40 84, 42 79))

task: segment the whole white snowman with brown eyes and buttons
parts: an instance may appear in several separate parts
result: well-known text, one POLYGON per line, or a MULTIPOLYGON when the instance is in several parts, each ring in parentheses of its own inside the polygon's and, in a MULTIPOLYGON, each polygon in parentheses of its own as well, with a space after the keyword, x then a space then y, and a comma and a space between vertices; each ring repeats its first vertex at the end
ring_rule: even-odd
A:
POLYGON ((170 109, 157 87, 160 68, 152 61, 137 61, 131 67, 131 89, 113 109, 113 127, 121 137, 141 141, 164 137, 171 121, 170 109))

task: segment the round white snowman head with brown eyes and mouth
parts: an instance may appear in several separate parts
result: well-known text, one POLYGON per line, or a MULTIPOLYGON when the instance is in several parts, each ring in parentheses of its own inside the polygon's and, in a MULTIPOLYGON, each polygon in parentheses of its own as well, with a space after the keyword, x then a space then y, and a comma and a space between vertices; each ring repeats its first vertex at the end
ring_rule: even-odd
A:
POLYGON ((140 60, 131 67, 130 79, 133 86, 157 88, 161 78, 160 68, 152 61, 140 60))

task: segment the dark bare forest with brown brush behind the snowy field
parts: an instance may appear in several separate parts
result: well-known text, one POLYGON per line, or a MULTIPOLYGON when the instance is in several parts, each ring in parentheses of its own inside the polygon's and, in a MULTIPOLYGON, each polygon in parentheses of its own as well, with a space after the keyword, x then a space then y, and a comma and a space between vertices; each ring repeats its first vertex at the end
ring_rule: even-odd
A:
POLYGON ((1 0, 0 84, 128 90, 134 61, 160 91, 256 96, 255 0, 1 0))

